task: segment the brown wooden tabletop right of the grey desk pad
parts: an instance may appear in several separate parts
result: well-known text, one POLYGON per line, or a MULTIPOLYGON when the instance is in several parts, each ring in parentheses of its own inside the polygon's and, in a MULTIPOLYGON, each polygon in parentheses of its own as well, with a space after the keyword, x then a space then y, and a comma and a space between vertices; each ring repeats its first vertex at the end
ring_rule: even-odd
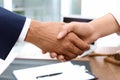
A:
MULTIPOLYGON (((120 80, 120 66, 104 61, 105 57, 87 57, 98 80, 120 80)), ((80 58, 77 60, 81 60, 80 58)))

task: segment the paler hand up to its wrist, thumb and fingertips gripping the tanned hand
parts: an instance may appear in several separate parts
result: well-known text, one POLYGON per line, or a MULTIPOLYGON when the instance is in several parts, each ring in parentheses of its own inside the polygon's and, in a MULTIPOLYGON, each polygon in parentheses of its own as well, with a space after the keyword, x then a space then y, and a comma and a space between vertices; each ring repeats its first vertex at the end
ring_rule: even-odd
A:
MULTIPOLYGON (((81 22, 71 22, 63 25, 60 28, 59 34, 57 35, 58 39, 64 39, 71 32, 75 33, 80 39, 90 44, 94 42, 98 37, 97 34, 94 34, 95 31, 89 23, 81 23, 81 22)), ((80 45, 81 47, 84 45, 80 45)), ((57 57, 59 60, 64 60, 63 55, 57 55, 52 52, 51 57, 57 57)))

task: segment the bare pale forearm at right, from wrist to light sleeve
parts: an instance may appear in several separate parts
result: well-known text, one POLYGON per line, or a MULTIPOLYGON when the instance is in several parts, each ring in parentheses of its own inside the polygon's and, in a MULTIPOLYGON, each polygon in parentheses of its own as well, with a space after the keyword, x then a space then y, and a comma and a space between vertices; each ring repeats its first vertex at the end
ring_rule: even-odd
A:
MULTIPOLYGON (((90 25, 94 29, 94 33, 103 37, 120 31, 120 26, 112 14, 106 14, 103 17, 97 18, 91 22, 90 25)), ((98 38, 99 38, 98 37, 98 38)))

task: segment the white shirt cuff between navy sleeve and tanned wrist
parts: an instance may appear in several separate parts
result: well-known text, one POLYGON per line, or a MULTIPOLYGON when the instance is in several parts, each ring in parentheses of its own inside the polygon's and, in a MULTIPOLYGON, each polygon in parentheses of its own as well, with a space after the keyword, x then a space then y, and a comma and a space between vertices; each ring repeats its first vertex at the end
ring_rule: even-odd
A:
POLYGON ((21 34, 18 38, 18 42, 23 42, 24 41, 24 39, 26 37, 26 34, 27 34, 27 31, 30 27, 30 23, 31 23, 31 19, 26 18, 25 24, 24 24, 23 29, 21 31, 21 34))

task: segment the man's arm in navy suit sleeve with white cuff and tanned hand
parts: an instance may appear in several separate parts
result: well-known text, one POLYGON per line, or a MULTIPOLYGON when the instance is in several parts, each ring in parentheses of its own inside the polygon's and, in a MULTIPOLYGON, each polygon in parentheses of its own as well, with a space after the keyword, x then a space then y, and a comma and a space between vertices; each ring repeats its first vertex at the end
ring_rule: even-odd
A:
POLYGON ((16 41, 30 42, 44 53, 55 52, 64 55, 65 60, 77 57, 87 50, 89 45, 75 33, 58 40, 56 36, 59 29, 65 24, 32 20, 0 7, 0 59, 6 59, 16 41))

